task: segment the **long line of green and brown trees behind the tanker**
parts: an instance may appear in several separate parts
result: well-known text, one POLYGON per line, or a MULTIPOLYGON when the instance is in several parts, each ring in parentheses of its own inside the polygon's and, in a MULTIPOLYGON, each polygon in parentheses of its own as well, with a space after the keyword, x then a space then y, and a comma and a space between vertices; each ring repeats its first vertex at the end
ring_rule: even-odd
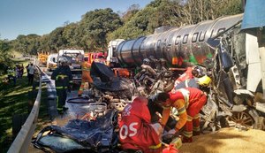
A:
POLYGON ((111 40, 133 39, 153 34, 156 27, 181 27, 202 20, 242 13, 241 0, 154 0, 145 8, 133 4, 125 12, 110 8, 87 11, 80 21, 65 22, 49 34, 20 34, 15 40, 0 39, 0 69, 10 65, 9 52, 36 55, 56 53, 62 48, 107 50, 111 40))

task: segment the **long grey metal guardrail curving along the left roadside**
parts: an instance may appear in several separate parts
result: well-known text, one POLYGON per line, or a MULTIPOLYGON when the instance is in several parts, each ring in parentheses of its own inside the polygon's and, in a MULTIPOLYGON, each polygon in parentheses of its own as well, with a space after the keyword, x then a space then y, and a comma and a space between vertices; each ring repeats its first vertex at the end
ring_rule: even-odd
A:
POLYGON ((10 149, 8 149, 8 153, 19 153, 19 152, 28 152, 28 146, 31 142, 32 136, 34 134, 35 127, 37 125, 37 119, 39 115, 40 105, 41 105, 41 97, 42 97, 42 77, 41 77, 41 69, 38 67, 40 72, 40 84, 38 95, 34 102, 34 107, 30 111, 27 120, 19 131, 14 142, 12 142, 10 149))

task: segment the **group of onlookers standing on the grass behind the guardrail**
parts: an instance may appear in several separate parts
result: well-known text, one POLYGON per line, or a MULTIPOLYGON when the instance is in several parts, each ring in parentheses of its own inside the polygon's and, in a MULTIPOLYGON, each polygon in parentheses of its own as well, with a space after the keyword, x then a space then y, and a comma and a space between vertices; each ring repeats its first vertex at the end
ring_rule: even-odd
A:
POLYGON ((16 86, 17 79, 22 78, 25 68, 27 69, 27 84, 32 85, 35 72, 35 66, 32 63, 28 64, 26 67, 24 67, 24 65, 10 66, 7 69, 7 78, 4 79, 4 83, 9 84, 11 81, 13 81, 13 85, 16 86))

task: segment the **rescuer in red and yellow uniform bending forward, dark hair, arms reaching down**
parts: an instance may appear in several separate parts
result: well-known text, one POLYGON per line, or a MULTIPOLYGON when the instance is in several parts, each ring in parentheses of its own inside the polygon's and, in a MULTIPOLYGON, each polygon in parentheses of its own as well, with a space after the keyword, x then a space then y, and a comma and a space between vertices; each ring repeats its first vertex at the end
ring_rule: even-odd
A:
POLYGON ((178 123, 170 134, 178 132, 184 127, 183 142, 193 142, 193 135, 200 134, 199 112, 207 102, 207 96, 198 88, 181 88, 175 92, 159 93, 155 103, 163 105, 162 125, 170 117, 170 107, 178 110, 178 123))

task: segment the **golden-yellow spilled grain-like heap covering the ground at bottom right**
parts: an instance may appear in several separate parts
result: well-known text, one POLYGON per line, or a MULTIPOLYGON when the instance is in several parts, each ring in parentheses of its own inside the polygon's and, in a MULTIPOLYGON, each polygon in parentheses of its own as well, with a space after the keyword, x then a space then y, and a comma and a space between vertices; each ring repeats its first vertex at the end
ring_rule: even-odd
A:
POLYGON ((180 153, 265 153, 265 132, 250 129, 223 128, 216 134, 193 137, 192 143, 184 143, 180 153))

